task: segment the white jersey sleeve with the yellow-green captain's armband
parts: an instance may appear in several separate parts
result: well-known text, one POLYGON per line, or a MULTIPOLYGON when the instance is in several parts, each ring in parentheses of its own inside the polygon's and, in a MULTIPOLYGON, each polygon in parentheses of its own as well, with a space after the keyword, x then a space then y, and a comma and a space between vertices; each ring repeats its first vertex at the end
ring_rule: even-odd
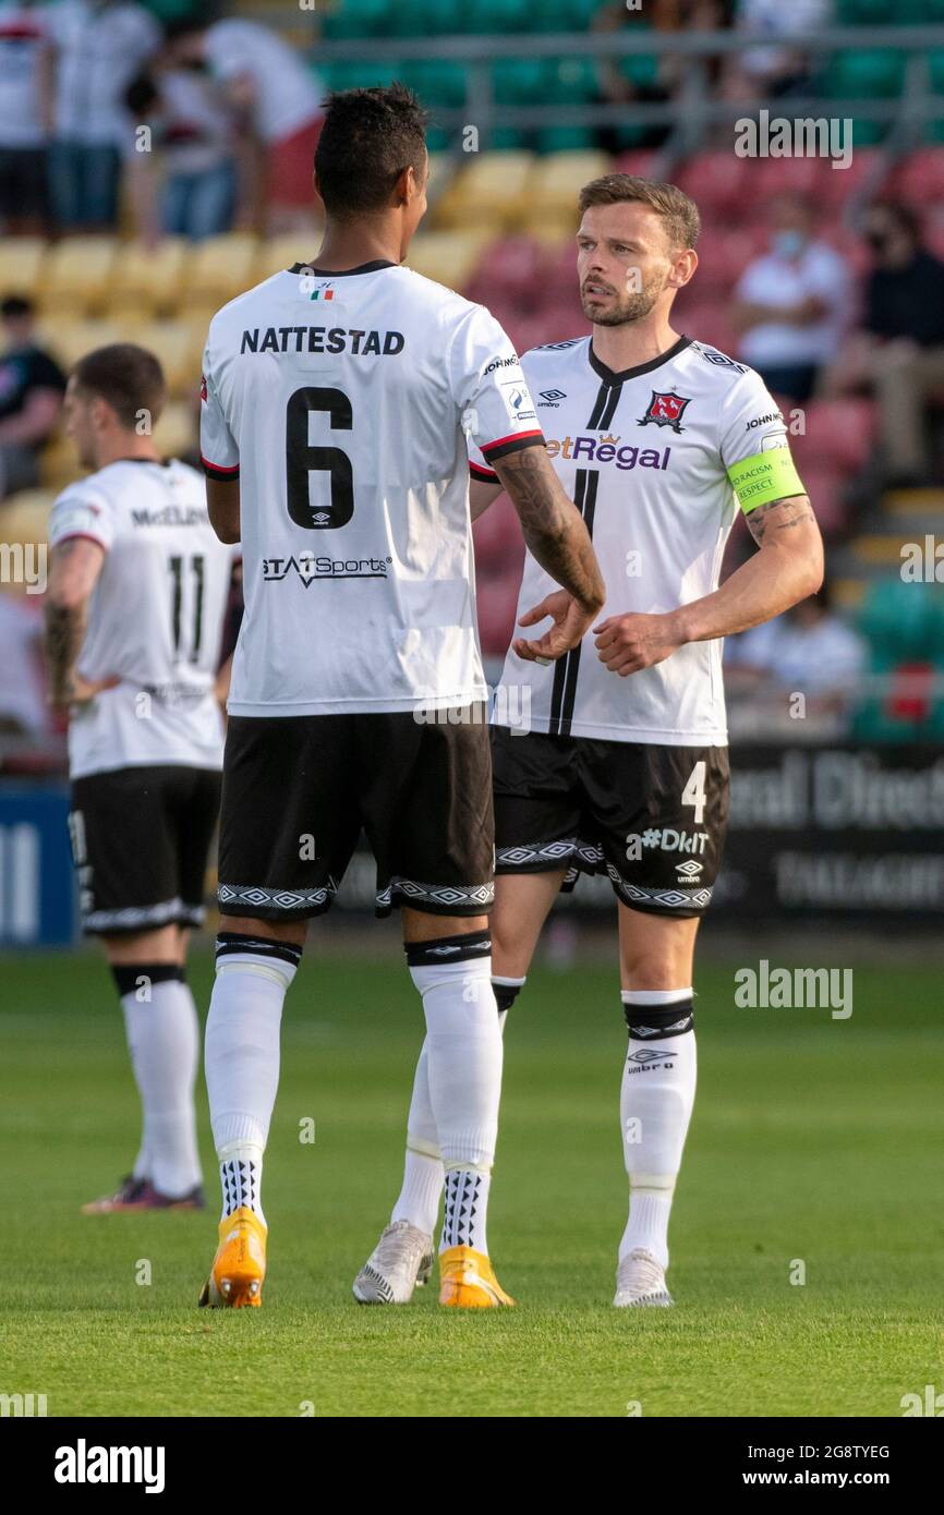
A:
POLYGON ((789 451, 783 415, 753 368, 724 397, 718 447, 724 471, 746 515, 771 500, 806 494, 789 451))

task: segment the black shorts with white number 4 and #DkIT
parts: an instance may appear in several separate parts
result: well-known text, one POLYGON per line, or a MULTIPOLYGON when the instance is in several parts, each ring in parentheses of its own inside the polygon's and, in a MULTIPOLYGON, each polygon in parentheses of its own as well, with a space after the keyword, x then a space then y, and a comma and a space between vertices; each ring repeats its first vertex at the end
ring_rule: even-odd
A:
POLYGON ((492 727, 495 871, 605 873, 633 911, 702 915, 727 829, 726 747, 492 727))

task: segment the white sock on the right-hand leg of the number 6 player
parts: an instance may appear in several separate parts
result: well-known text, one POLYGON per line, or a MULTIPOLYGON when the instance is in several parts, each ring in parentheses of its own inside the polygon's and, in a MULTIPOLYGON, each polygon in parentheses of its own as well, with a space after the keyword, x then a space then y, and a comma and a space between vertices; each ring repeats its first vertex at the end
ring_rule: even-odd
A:
POLYGON ((429 1106, 445 1167, 449 1224, 439 1250, 474 1245, 485 1251, 488 1182, 483 1180, 494 1160, 502 1095, 491 941, 488 932, 474 932, 411 942, 406 951, 411 977, 423 995, 429 1106), (459 1201, 452 1214, 450 1195, 459 1201), (455 1235, 465 1239, 447 1239, 455 1235))

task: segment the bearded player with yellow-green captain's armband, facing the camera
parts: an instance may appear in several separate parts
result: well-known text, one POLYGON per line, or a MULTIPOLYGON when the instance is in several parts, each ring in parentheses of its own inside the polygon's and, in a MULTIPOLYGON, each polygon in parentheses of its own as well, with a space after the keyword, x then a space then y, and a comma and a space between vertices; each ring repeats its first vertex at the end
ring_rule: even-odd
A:
MULTIPOLYGON (((670 326, 697 267, 695 205, 673 185, 609 174, 580 194, 580 301, 592 335, 521 362, 561 483, 591 532, 603 617, 565 658, 515 641, 492 726, 494 986, 520 994, 558 891, 609 876, 629 1051, 620 1124, 630 1185, 617 1306, 671 1304, 668 1218, 695 1092, 692 957, 727 821, 721 639, 812 594, 823 547, 776 401, 750 368, 670 326), (738 509, 759 551, 721 588, 738 509)), ((471 450, 473 517, 502 480, 471 450)), ((529 553, 518 623, 567 614, 529 553)), ((442 1167, 427 1053, 414 1083, 392 1224, 432 1232, 442 1167)), ((421 1250, 417 1241, 414 1250, 421 1250)), ((408 1300, 411 1254, 389 1256, 408 1300)))

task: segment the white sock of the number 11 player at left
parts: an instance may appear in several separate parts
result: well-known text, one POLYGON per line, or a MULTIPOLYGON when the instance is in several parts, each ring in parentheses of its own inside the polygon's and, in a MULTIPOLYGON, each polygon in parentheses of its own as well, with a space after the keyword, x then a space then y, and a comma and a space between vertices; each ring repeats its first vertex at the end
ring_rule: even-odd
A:
POLYGON ((186 983, 179 976, 158 979, 159 971, 167 970, 129 968, 136 986, 121 995, 144 1118, 135 1177, 150 1179, 159 1194, 182 1198, 200 1183, 194 1112, 200 1032, 186 983))

